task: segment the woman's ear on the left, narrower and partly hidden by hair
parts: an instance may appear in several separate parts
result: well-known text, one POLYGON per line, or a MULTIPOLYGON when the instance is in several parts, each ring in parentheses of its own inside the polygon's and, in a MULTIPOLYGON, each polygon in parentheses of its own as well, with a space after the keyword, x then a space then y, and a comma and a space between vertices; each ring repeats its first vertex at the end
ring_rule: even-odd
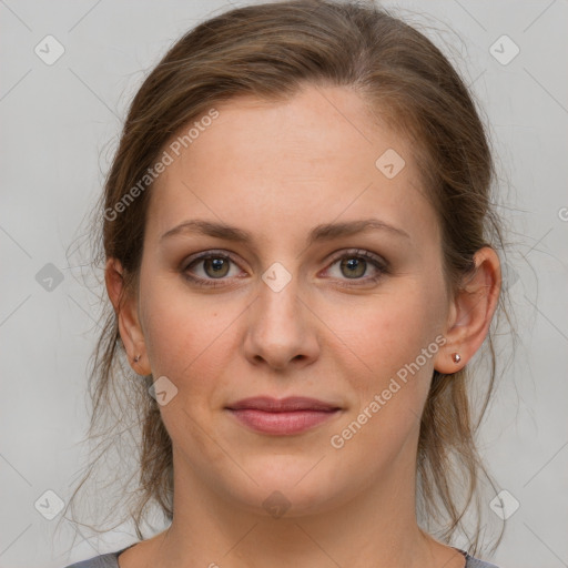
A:
POLYGON ((148 361, 144 334, 138 315, 138 302, 135 297, 128 295, 124 288, 123 268, 116 258, 106 261, 104 282, 110 301, 119 322, 119 332, 126 351, 130 366, 139 375, 152 373, 148 361), (121 298, 121 295, 124 297, 121 298), (135 357, 140 356, 138 362, 135 357))

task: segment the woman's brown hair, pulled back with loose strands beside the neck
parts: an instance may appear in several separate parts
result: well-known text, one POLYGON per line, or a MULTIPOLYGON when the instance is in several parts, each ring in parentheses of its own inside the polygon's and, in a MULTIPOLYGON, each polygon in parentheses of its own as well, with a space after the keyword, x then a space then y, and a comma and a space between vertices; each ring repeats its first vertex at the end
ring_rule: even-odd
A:
MULTIPOLYGON (((471 274, 476 251, 504 248, 501 220, 493 204, 496 175, 487 129, 473 95, 442 51, 417 29, 372 2, 278 1, 233 9, 203 21, 171 47, 136 92, 89 236, 95 267, 103 267, 110 257, 122 264, 124 297, 138 294, 152 194, 148 174, 173 136, 215 104, 241 95, 281 101, 310 85, 358 93, 377 121, 413 142, 422 189, 439 220, 449 293, 457 293, 464 277, 471 274), (141 180, 148 187, 126 202, 141 180), (110 211, 120 213, 111 215, 110 211)), ((507 315, 505 293, 501 290, 497 314, 507 315)), ((138 433, 140 455, 133 468, 138 480, 129 494, 126 518, 134 521, 142 539, 140 525, 150 505, 158 506, 169 521, 173 518, 172 443, 159 405, 148 393, 153 377, 124 368, 115 312, 108 298, 101 301, 101 332, 89 376, 93 408, 88 439, 100 437, 105 447, 68 507, 95 463, 111 449, 118 450, 124 433, 138 433), (133 375, 130 381, 129 373, 133 375), (116 403, 120 410, 114 413, 116 403)), ((496 379, 491 331, 485 343, 490 364, 477 418, 473 398, 478 383, 470 368, 452 375, 434 371, 416 463, 419 523, 428 531, 436 530, 445 542, 460 530, 474 555, 481 532, 481 476, 495 488, 475 442, 496 379), (465 515, 471 507, 476 521, 470 529, 465 515)), ((123 463, 126 454, 119 455, 123 463)), ((119 481, 124 487, 122 477, 119 481)), ((109 508, 108 503, 104 506, 109 508)), ((497 545, 501 538, 503 532, 497 545)))

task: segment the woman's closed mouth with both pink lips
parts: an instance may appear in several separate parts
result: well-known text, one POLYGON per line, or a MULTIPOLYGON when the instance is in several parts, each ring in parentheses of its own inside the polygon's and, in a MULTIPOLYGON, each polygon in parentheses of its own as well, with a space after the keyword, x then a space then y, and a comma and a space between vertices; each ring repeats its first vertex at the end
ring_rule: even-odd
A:
POLYGON ((280 436, 312 429, 342 410, 333 404, 298 396, 283 399, 266 396, 245 398, 225 409, 254 432, 280 436))

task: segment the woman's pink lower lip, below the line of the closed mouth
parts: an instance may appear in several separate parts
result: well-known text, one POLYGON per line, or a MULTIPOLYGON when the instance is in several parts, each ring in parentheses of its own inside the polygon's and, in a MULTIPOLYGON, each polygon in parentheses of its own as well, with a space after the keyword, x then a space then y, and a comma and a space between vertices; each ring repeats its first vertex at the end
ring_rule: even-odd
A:
POLYGON ((293 410, 286 413, 267 413, 244 408, 230 410, 241 423, 263 434, 290 435, 305 432, 333 416, 339 410, 293 410))

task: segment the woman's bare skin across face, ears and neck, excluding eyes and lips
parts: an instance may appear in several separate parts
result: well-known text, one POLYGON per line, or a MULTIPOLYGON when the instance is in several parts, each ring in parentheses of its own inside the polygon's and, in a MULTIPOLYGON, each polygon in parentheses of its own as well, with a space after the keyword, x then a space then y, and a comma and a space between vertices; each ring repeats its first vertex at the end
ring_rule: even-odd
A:
POLYGON ((459 552, 416 523, 419 416, 433 371, 462 368, 487 335, 497 254, 478 251, 475 275, 450 298, 440 230, 410 146, 374 124, 356 93, 307 87, 286 102, 239 98, 215 108, 220 116, 152 189, 138 296, 120 308, 122 267, 114 258, 106 265, 133 369, 178 388, 160 407, 173 443, 174 519, 123 552, 120 567, 463 568, 459 552), (375 166, 389 148, 406 161, 390 180, 375 166), (369 216, 408 237, 371 230, 305 246, 320 223, 369 216), (236 225, 254 241, 160 242, 190 219, 236 225), (377 268, 368 262, 349 278, 331 256, 357 257, 352 248, 385 258, 389 273, 371 282, 377 268), (203 262, 190 272, 221 285, 184 280, 187 260, 211 250, 233 255, 224 280, 203 262), (280 292, 262 280, 274 262, 292 276, 280 292), (332 447, 331 437, 439 335, 447 343, 352 439, 332 447), (298 435, 258 434, 224 409, 256 395, 310 396, 342 412, 298 435), (262 505, 274 490, 290 503, 281 518, 262 505))

